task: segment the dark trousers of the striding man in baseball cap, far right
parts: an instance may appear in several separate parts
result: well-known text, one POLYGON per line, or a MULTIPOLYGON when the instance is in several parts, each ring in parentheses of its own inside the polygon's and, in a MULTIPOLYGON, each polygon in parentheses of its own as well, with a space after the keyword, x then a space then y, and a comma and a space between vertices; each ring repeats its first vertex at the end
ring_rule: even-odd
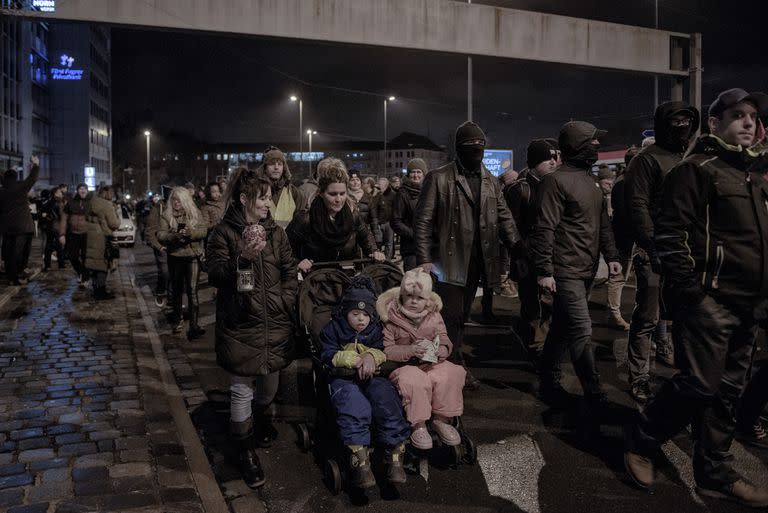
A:
POLYGON ((696 437, 693 475, 704 488, 740 479, 729 450, 735 408, 755 348, 751 308, 735 308, 705 296, 673 312, 672 336, 680 372, 651 399, 628 438, 628 449, 651 455, 689 423, 696 437))

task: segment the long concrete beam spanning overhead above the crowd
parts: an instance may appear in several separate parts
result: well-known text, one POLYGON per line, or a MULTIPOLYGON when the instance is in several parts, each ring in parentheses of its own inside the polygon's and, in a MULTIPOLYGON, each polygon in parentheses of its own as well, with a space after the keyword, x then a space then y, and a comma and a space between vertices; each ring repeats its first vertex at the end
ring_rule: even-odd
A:
POLYGON ((701 107, 701 35, 451 0, 23 0, 3 15, 408 48, 663 75, 701 107), (45 10, 42 12, 40 9, 45 10), (467 27, 471 27, 468 29, 467 27), (684 63, 687 65, 684 67, 684 63))

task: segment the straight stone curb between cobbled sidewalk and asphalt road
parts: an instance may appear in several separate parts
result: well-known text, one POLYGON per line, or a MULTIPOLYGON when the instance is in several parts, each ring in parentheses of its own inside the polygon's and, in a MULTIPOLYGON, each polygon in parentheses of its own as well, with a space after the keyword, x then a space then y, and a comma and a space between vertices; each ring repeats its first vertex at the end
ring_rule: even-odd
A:
POLYGON ((197 429, 195 429, 192 419, 187 411, 184 397, 176 384, 176 378, 173 375, 171 365, 163 350, 162 342, 157 336, 157 327, 149 313, 149 308, 147 307, 147 303, 144 300, 141 290, 135 286, 136 275, 135 273, 130 272, 129 277, 131 283, 134 284, 133 292, 136 296, 136 304, 139 307, 141 318, 147 331, 147 336, 152 345, 152 352, 155 355, 155 361, 157 362, 158 370, 160 371, 163 387, 166 396, 168 397, 168 404, 171 409, 170 413, 178 428, 179 438, 184 445, 184 453, 187 456, 192 479, 195 482, 195 488, 197 488, 203 508, 206 513, 229 513, 229 508, 224 501, 224 496, 221 493, 219 484, 213 475, 213 470, 211 469, 208 457, 205 454, 205 449, 200 442, 197 429))

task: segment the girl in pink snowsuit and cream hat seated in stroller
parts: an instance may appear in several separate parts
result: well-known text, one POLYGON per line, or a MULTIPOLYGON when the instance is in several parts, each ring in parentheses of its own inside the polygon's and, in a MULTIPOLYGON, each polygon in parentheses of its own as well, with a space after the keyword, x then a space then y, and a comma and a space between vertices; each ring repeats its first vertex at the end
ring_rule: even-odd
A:
POLYGON ((403 398, 405 415, 413 430, 411 443, 417 449, 432 448, 432 437, 427 431, 430 419, 432 429, 444 444, 461 443, 450 418, 464 411, 462 388, 466 371, 446 360, 453 344, 440 315, 442 307, 440 296, 432 292, 432 278, 421 268, 405 273, 400 287, 384 292, 376 302, 384 323, 387 360, 403 364, 389 379, 403 398))

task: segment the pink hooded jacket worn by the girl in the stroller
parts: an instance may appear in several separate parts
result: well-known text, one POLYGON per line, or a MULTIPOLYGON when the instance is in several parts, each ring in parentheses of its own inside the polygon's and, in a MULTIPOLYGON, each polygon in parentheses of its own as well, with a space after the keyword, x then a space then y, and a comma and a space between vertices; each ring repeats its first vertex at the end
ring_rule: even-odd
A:
POLYGON ((443 316, 443 301, 436 293, 430 293, 429 313, 415 326, 401 311, 400 287, 387 290, 376 301, 376 311, 384 323, 384 354, 387 360, 394 362, 408 361, 410 346, 419 340, 434 340, 440 337, 440 345, 448 348, 448 354, 453 351, 453 343, 448 338, 443 316))

